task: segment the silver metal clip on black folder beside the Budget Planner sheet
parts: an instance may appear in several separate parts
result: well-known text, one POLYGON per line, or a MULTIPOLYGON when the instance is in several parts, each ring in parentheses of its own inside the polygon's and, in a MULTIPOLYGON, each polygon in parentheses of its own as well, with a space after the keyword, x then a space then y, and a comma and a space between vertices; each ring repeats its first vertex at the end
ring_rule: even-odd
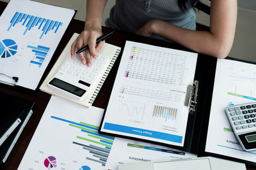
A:
POLYGON ((190 96, 186 97, 187 99, 189 99, 189 102, 187 100, 187 102, 185 101, 185 105, 189 106, 189 114, 193 114, 195 113, 195 108, 196 108, 196 98, 198 96, 198 84, 199 81, 198 80, 194 80, 193 85, 188 85, 188 91, 187 94, 190 94, 190 96), (189 93, 190 91, 190 93, 189 93))

